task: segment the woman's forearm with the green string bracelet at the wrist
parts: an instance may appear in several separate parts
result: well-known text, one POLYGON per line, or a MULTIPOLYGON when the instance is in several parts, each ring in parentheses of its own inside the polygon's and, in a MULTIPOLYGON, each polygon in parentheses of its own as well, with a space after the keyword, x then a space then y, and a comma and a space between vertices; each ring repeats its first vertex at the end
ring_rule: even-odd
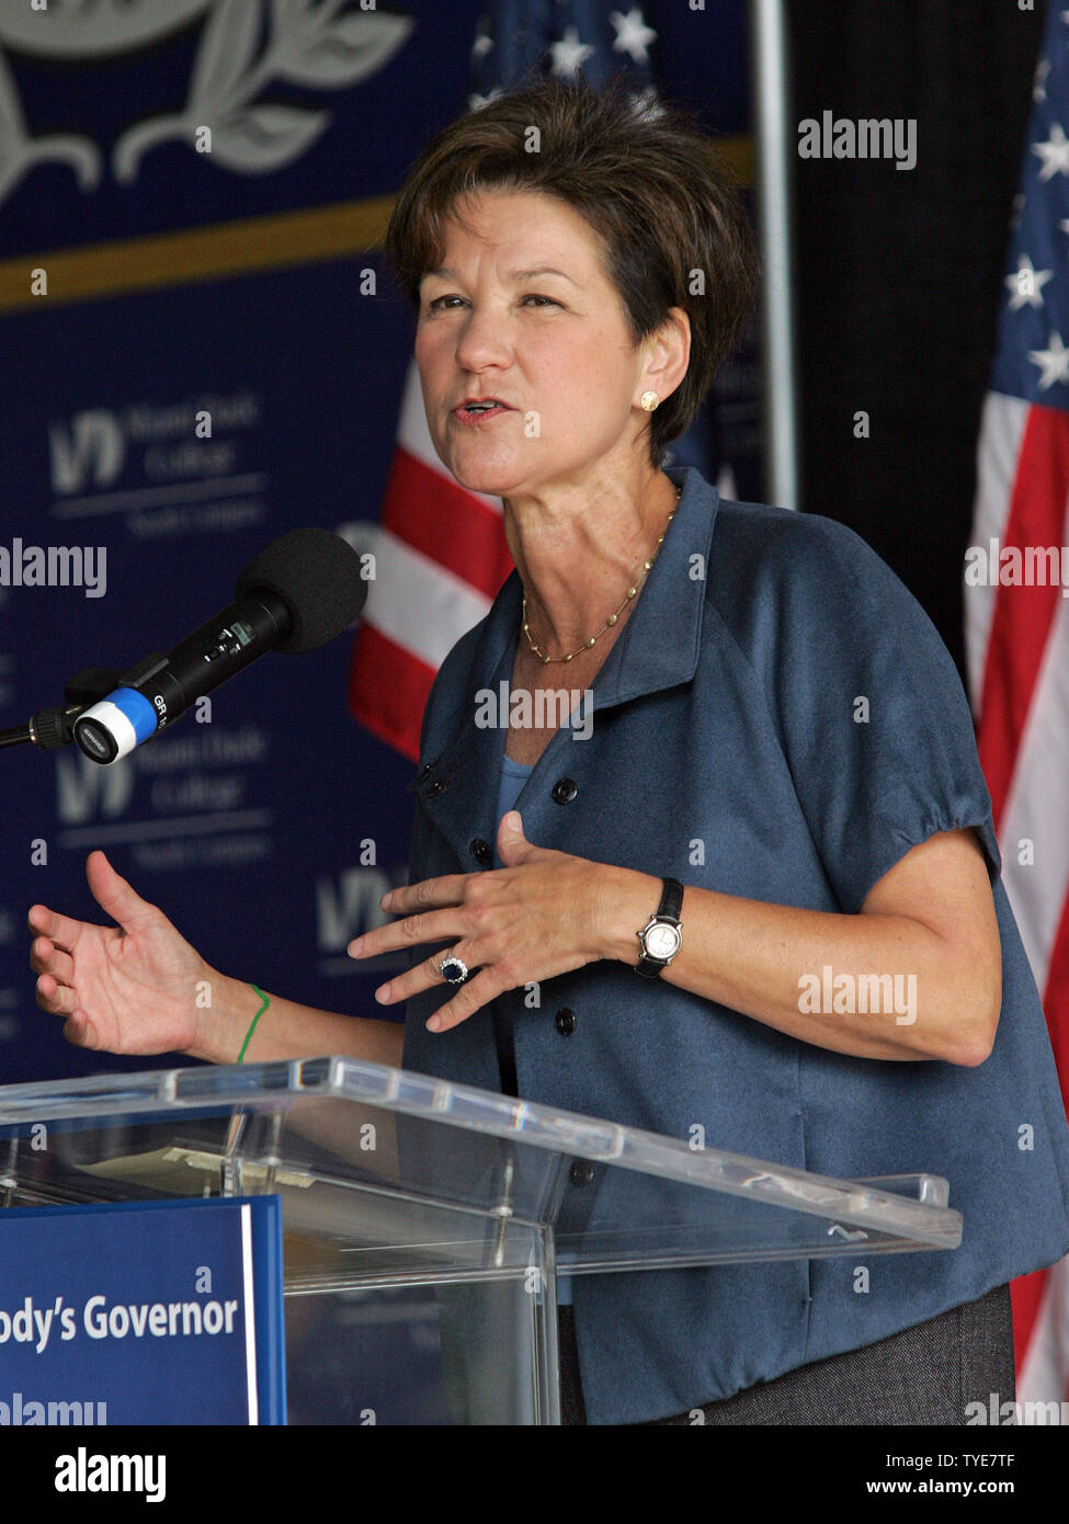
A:
MULTIPOLYGON (((252 985, 226 975, 210 980, 210 994, 212 1004, 198 1012, 197 1039, 186 1052, 210 1064, 236 1064, 262 1001, 252 985)), ((270 995, 270 1006, 256 1021, 246 1050, 246 1062, 343 1053, 398 1067, 403 1044, 403 1021, 345 1017, 270 995)))

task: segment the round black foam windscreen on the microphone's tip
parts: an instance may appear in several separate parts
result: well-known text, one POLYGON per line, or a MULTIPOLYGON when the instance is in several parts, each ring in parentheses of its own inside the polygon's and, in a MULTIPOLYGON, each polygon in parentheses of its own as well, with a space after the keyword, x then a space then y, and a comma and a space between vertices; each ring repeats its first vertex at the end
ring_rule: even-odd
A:
POLYGON ((291 529, 264 546, 241 572, 238 597, 267 588, 293 616, 278 651, 314 651, 351 625, 368 597, 360 556, 329 529, 291 529))

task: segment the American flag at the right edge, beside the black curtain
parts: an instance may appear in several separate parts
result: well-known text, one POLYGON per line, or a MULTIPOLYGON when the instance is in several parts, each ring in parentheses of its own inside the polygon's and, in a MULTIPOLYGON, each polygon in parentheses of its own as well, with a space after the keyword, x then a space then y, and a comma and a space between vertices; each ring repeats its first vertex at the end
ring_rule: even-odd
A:
MULTIPOLYGON (((1003 881, 1069 1109, 1069 11, 1035 70, 965 556, 965 645, 1003 881)), ((1028 1119, 1022 1119, 1026 1122, 1028 1119)), ((1069 1259, 1013 1283, 1017 1399, 1069 1399, 1069 1259)))

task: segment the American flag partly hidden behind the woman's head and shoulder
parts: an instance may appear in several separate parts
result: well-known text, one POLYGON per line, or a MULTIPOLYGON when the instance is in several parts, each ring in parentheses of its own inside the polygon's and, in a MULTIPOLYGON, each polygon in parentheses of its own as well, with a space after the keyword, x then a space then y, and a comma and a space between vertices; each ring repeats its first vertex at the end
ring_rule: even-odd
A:
MULTIPOLYGON (((476 30, 467 108, 477 111, 540 70, 555 78, 583 75, 596 87, 610 75, 625 75, 636 98, 656 110, 656 40, 639 6, 624 12, 605 0, 497 0, 476 30)), ((682 454, 673 451, 673 459, 682 454)), ((691 440, 686 463, 706 465, 700 440, 691 440)), ((435 674, 486 614, 512 561, 500 500, 462 488, 435 454, 415 363, 374 550, 375 579, 349 671, 349 710, 416 760, 435 674)))

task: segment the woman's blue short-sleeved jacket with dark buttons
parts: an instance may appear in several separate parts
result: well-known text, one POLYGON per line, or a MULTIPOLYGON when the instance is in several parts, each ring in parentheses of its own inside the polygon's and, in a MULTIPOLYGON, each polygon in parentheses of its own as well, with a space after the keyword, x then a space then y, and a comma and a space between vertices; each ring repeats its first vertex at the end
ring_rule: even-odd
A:
MULTIPOLYGON (((592 1423, 727 1398, 1069 1251, 1069 1129, 945 646, 843 524, 721 500, 692 468, 668 475, 683 495, 595 678, 593 732, 578 741, 561 727, 517 800, 528 840, 685 885, 856 913, 912 846, 974 826, 1003 1000, 976 1068, 831 1053, 615 962, 544 980, 540 1009, 523 991, 496 1003, 526 1099, 682 1138, 701 1123, 712 1146, 822 1175, 929 1170, 949 1178, 965 1219, 956 1251, 576 1277, 592 1423), (561 1007, 573 1030, 555 1023, 561 1007), (856 1289, 859 1262, 868 1291, 856 1289)), ((514 572, 436 677, 410 785, 413 882, 490 866, 505 730, 476 724, 476 693, 511 678, 520 591, 514 572)), ((683 925, 686 937, 686 896, 683 925)), ((500 1090, 490 1010, 442 1035, 424 1029, 448 994, 409 1001, 404 1067, 500 1090)))

